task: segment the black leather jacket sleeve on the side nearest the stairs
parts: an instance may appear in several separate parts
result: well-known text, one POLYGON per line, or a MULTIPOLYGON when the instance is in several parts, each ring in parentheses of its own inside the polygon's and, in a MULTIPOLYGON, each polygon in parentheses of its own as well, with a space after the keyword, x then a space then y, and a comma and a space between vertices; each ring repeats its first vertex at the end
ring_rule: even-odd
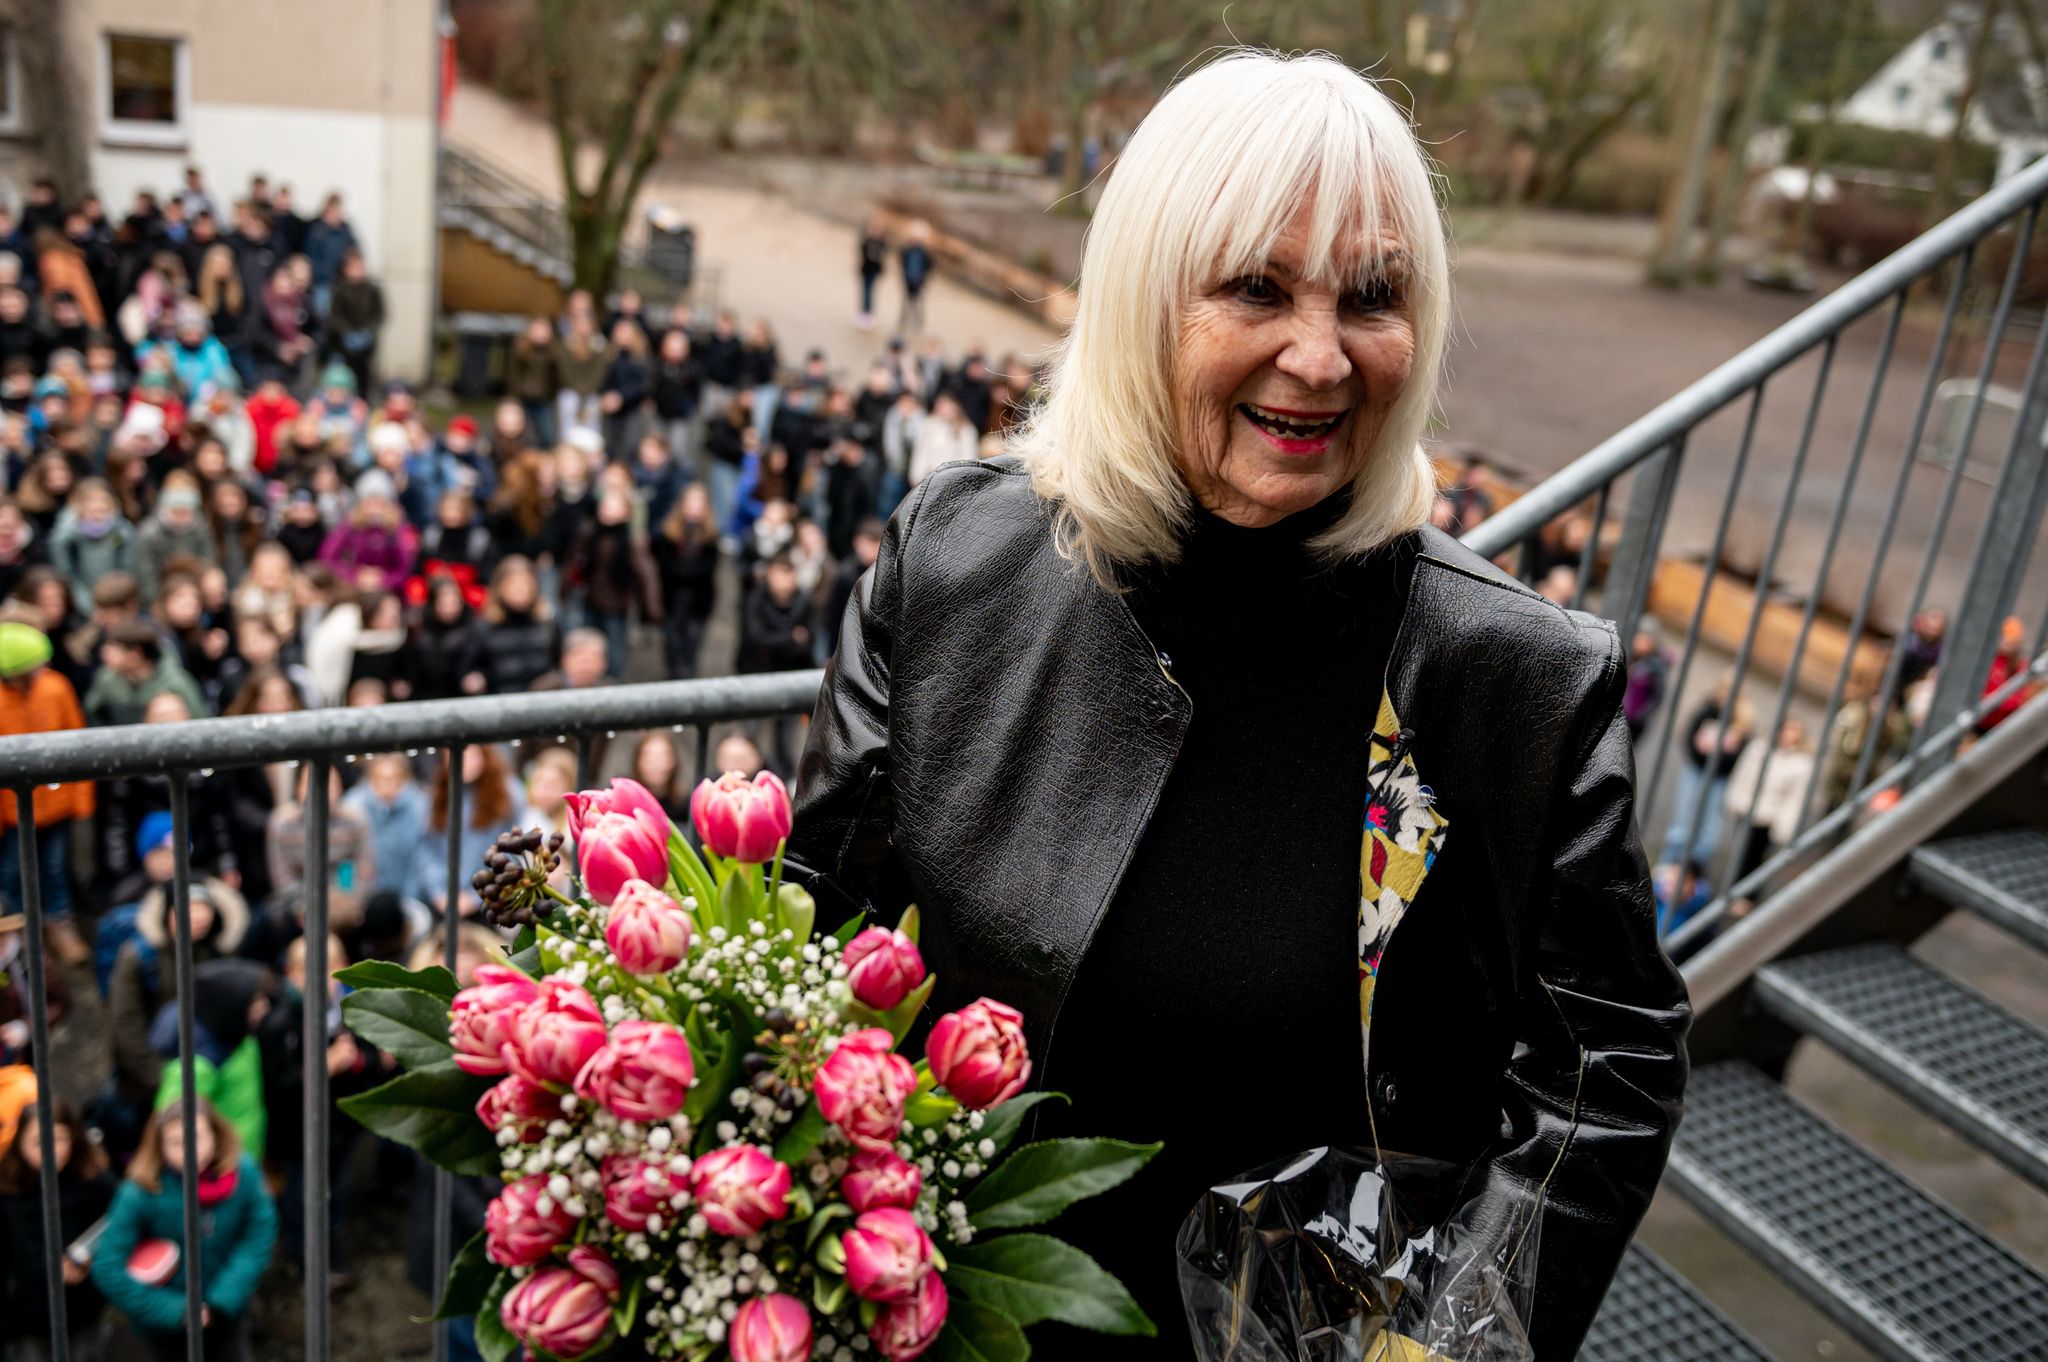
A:
POLYGON ((1528 938, 1524 1049, 1503 1083, 1513 1143, 1485 1169, 1495 1204, 1542 1190, 1530 1337, 1544 1360, 1585 1339, 1657 1190, 1686 1088, 1692 1008, 1657 944, 1624 686, 1610 633, 1546 825, 1546 920, 1528 938))

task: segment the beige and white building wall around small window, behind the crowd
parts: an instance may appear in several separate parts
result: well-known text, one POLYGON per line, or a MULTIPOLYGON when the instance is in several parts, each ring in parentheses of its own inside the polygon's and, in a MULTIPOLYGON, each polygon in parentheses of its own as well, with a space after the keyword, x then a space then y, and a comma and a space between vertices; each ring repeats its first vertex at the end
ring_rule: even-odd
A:
MULTIPOLYGON (((106 211, 174 193, 184 166, 225 211, 252 174, 311 215, 340 193, 385 293, 379 371, 422 377, 434 307, 436 0, 72 0, 86 150, 106 211), (176 129, 109 121, 106 35, 180 39, 176 129)), ((4 166, 4 160, 0 160, 4 166)))

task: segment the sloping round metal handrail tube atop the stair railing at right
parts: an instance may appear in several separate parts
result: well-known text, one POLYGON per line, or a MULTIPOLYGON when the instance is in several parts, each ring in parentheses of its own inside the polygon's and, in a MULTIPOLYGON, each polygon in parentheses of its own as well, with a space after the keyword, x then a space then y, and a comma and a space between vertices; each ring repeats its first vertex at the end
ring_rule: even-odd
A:
POLYGON ((1671 444, 1722 406, 1802 358, 1892 293, 1991 236, 2007 217, 2048 197, 2048 158, 1995 186, 1884 260, 1847 281, 1806 311, 1747 346, 1708 375, 1657 403, 1569 465, 1530 487, 1513 504, 1481 522, 1464 543, 1485 557, 1516 547, 1546 522, 1569 512, 1622 473, 1671 444))

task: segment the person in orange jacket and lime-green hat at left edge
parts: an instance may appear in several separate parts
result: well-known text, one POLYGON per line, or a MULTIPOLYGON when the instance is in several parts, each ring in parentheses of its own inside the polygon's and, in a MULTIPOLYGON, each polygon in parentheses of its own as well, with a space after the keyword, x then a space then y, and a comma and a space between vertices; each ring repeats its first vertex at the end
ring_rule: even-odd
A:
MULTIPOLYGON (((49 637, 16 621, 0 623, 0 737, 86 727, 86 715, 59 672, 49 666, 49 637)), ((39 784, 33 795, 37 864, 43 881, 43 924, 49 948, 66 965, 86 959, 72 926, 72 823, 92 817, 92 782, 39 784)), ((14 791, 0 791, 0 903, 23 911, 20 809, 14 791)))

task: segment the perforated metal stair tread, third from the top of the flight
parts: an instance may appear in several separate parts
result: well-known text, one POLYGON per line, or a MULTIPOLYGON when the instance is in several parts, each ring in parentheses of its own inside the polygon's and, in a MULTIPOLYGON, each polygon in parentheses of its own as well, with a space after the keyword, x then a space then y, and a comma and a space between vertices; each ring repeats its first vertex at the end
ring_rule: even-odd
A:
POLYGON ((2048 1280, 1741 1061, 1696 1069, 1671 1188, 1894 1362, 2048 1362, 2048 1280))

